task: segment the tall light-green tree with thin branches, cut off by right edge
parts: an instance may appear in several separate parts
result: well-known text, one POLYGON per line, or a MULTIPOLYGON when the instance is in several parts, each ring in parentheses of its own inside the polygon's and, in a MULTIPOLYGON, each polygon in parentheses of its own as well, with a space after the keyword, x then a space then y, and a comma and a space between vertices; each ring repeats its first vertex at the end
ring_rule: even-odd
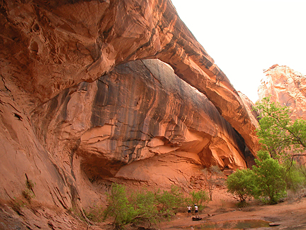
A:
POLYGON ((296 155, 305 155, 306 150, 306 121, 290 119, 287 106, 271 102, 265 97, 256 102, 255 109, 259 111, 259 128, 257 135, 263 150, 267 150, 273 158, 288 158, 290 151, 296 155))

